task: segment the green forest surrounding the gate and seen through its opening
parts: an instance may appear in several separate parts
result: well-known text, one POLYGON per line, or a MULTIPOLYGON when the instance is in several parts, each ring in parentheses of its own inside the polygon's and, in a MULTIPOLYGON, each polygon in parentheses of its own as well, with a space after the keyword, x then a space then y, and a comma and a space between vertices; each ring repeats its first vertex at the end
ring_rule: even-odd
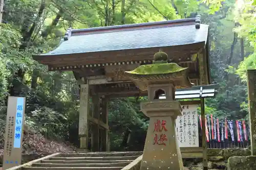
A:
MULTIPOLYGON (((3 0, 1 0, 3 1, 3 0)), ((5 0, 0 30, 0 149, 7 96, 26 96, 24 152, 55 152, 79 146, 78 84, 72 72, 48 72, 32 59, 58 45, 65 30, 161 21, 201 15, 210 30, 211 80, 220 84, 206 114, 248 117, 246 70, 256 68, 255 2, 249 0, 5 0)), ((1 8, 0 8, 1 10, 1 8)), ((0 22, 1 23, 1 22, 0 22)), ((142 151, 148 118, 136 98, 112 99, 112 151, 142 151), (129 147, 122 147, 126 129, 129 147), (120 135, 121 134, 121 135, 120 135)), ((3 152, 3 150, 2 150, 3 152)), ((1 154, 1 152, 0 152, 1 154)))

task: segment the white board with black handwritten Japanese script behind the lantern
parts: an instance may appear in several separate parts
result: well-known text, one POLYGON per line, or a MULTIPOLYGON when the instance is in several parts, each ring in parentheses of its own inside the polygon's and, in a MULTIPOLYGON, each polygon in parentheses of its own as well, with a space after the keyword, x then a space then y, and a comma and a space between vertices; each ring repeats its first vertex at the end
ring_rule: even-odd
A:
POLYGON ((176 136, 180 147, 199 147, 197 105, 184 105, 183 116, 176 119, 176 136))

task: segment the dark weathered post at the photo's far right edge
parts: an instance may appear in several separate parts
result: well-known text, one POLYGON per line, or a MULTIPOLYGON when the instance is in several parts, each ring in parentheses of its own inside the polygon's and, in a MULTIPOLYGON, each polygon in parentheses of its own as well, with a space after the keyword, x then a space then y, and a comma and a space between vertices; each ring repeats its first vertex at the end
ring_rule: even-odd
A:
POLYGON ((256 155, 256 69, 247 70, 251 155, 256 155))

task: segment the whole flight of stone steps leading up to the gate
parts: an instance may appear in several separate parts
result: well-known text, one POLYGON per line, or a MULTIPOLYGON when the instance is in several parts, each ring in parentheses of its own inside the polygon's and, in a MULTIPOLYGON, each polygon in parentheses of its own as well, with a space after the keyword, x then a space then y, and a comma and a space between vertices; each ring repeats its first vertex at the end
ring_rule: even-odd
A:
POLYGON ((23 170, 113 169, 120 170, 143 152, 62 153, 24 166, 23 170))

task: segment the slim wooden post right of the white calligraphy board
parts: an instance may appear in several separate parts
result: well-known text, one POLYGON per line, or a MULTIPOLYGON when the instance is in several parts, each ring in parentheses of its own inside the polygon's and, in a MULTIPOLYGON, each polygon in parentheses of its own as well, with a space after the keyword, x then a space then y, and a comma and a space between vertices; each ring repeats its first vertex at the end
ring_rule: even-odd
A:
POLYGON ((201 98, 201 119, 202 119, 202 148, 203 148, 203 170, 208 170, 207 163, 207 145, 205 136, 205 114, 204 114, 204 98, 201 98))

